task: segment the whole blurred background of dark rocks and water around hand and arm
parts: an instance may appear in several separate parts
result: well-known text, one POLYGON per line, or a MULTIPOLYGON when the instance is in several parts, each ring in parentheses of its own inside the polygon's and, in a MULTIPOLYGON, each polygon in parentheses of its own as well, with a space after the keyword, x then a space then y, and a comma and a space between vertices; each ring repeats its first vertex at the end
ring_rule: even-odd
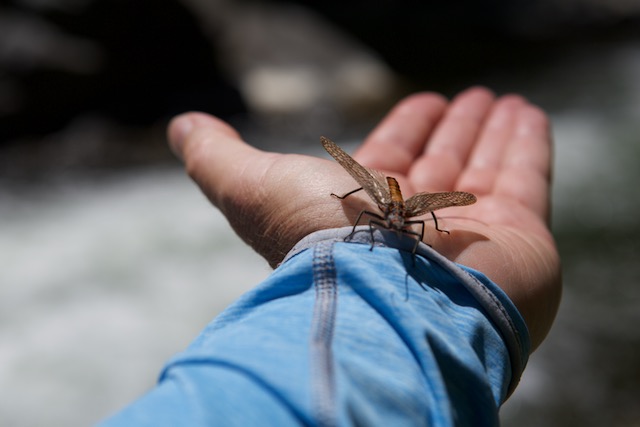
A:
POLYGON ((359 143, 475 84, 554 125, 564 297, 505 426, 640 426, 640 3, 0 3, 0 424, 93 424, 269 274, 170 154, 167 120, 359 143))

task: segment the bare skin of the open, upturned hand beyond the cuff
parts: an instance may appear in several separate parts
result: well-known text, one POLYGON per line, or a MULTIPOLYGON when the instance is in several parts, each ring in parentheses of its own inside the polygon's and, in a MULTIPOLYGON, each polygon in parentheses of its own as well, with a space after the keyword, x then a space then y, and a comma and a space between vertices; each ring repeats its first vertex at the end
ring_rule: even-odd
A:
MULTIPOLYGON (((329 196, 356 187, 336 162, 257 150, 215 117, 183 114, 168 135, 188 174, 271 266, 309 233, 350 226, 360 210, 372 209, 363 192, 342 202, 329 196)), ((474 205, 438 211, 440 227, 451 234, 427 222, 424 240, 497 283, 537 347, 561 295, 549 231, 551 135, 544 112, 520 96, 496 97, 481 87, 451 101, 418 93, 387 114, 354 158, 395 177, 405 198, 453 190, 477 196, 474 205)))

